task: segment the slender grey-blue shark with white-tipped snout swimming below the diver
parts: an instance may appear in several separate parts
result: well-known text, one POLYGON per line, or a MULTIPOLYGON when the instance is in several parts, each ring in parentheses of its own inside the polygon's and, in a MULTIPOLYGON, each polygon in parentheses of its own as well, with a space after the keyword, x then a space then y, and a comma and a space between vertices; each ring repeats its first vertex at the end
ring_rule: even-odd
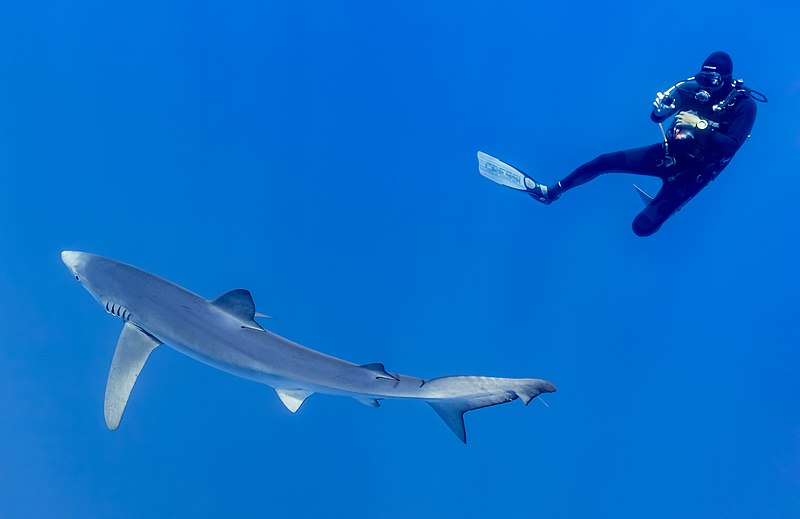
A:
POLYGON ((381 363, 353 364, 280 337, 256 322, 250 292, 236 289, 207 300, 131 265, 86 252, 61 259, 106 312, 123 321, 106 383, 104 415, 119 427, 150 353, 162 344, 227 373, 272 387, 292 413, 314 393, 379 407, 382 399, 426 402, 466 443, 464 413, 520 399, 526 405, 556 390, 535 378, 390 373, 381 363))

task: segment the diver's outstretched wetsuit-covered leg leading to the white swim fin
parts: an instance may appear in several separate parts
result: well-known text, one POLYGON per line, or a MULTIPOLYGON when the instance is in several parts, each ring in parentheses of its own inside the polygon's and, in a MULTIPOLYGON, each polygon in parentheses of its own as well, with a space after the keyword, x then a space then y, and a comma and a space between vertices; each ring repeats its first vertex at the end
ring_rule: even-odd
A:
POLYGON ((594 180, 603 173, 634 173, 664 179, 667 176, 667 167, 667 163, 664 161, 664 147, 661 143, 604 153, 579 166, 560 182, 546 186, 545 193, 551 200, 555 200, 564 191, 594 180))

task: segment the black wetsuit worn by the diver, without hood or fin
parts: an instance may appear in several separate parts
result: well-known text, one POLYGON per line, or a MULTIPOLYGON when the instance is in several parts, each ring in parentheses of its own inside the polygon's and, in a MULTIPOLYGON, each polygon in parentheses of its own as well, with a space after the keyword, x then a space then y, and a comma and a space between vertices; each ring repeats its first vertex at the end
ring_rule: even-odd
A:
MULTIPOLYGON (((756 118, 756 103, 740 94, 721 111, 713 105, 728 96, 731 89, 713 95, 706 102, 695 99, 700 87, 687 83, 676 89, 675 108, 668 113, 650 115, 660 123, 679 111, 691 111, 709 121, 704 130, 695 129, 694 138, 681 139, 680 131, 670 127, 667 149, 664 143, 652 144, 615 153, 606 153, 587 162, 560 182, 566 191, 596 178, 603 173, 621 172, 658 177, 663 181, 653 201, 633 220, 633 232, 650 236, 672 214, 692 199, 713 180, 744 144, 756 118), (668 150, 668 155, 665 153, 668 150)), ((685 134, 685 133, 684 133, 685 134)))

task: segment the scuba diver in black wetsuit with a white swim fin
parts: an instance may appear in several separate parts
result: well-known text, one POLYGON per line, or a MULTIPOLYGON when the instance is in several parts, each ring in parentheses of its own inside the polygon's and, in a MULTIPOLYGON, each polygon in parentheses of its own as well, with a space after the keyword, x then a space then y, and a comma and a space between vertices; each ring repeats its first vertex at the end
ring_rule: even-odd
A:
POLYGON ((694 77, 658 92, 650 119, 658 123, 662 142, 606 153, 583 164, 555 184, 542 184, 503 162, 478 152, 479 170, 500 184, 527 192, 543 204, 603 173, 658 177, 655 197, 636 187, 647 207, 633 220, 633 232, 650 236, 728 165, 756 119, 756 103, 767 98, 733 79, 733 62, 714 52, 694 77), (662 123, 675 115, 669 129, 662 123))

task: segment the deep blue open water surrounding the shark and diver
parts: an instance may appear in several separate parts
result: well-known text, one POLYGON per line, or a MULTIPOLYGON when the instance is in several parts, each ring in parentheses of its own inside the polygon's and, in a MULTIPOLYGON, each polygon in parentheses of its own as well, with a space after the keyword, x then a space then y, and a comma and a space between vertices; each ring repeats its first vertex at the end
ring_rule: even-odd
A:
POLYGON ((0 515, 800 517, 799 15, 4 5, 0 515), (543 207, 478 175, 477 150, 554 181, 657 142, 655 92, 715 50, 770 102, 655 236, 630 230, 633 177, 543 207), (421 403, 291 415, 160 348, 112 433, 120 323, 63 249, 247 288, 271 330, 353 362, 559 391, 469 413, 465 446, 421 403))

